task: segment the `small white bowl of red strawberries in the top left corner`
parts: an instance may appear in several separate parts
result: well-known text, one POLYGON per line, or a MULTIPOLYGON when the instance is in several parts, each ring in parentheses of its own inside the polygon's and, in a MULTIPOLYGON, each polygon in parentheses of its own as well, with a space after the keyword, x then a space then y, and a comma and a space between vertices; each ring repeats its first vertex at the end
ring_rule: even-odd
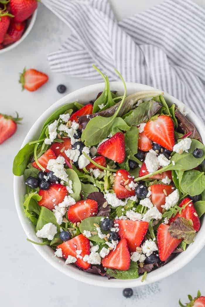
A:
POLYGON ((0 0, 0 54, 19 45, 30 33, 38 0, 0 0))

